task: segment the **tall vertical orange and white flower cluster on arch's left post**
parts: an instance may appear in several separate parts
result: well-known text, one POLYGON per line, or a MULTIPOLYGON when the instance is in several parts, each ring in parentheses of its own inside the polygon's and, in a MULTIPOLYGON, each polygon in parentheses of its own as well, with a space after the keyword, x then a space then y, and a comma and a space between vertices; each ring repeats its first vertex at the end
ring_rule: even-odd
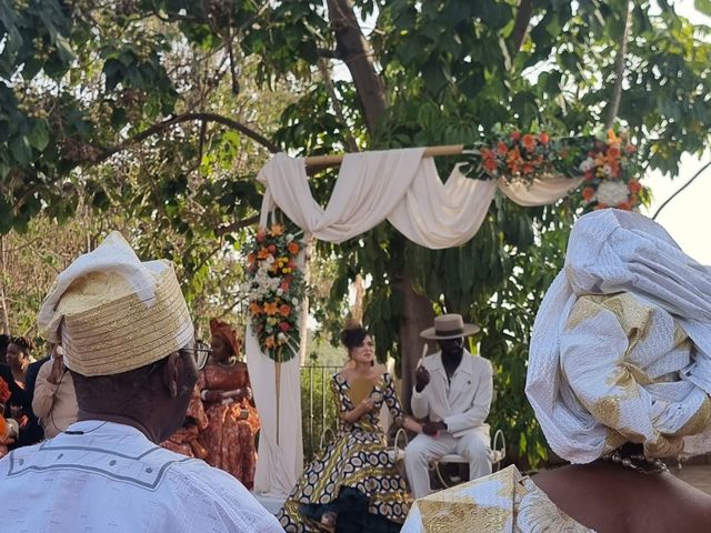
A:
POLYGON ((300 304, 304 293, 298 255, 302 244, 283 224, 260 228, 248 244, 246 293, 259 345, 277 362, 299 352, 300 304))

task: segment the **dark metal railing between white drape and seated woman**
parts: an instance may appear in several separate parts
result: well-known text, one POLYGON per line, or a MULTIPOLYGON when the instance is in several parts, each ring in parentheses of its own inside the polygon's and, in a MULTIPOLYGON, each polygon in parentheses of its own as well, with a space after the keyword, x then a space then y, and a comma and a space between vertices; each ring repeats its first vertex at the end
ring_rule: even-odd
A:
POLYGON ((311 461, 327 428, 336 430, 337 415, 331 376, 341 366, 301 366, 301 431, 303 459, 311 461))

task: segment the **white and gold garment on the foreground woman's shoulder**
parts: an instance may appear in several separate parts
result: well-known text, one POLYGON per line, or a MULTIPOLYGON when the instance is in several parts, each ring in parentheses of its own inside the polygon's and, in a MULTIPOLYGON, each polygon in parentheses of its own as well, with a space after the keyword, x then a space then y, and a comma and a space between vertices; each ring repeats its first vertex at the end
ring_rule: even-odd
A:
POLYGON ((417 500, 401 533, 594 533, 508 466, 417 500))

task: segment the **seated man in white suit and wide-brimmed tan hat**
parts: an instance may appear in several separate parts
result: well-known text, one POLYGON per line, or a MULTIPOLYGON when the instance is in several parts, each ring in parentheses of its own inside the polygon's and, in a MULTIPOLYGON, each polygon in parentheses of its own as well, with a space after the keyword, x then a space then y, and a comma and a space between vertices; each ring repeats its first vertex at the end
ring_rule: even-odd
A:
POLYGON ((493 393, 491 363, 464 349, 464 336, 479 331, 460 314, 443 314, 420 333, 440 351, 425 356, 414 374, 412 414, 427 419, 405 450, 404 465, 414 497, 432 492, 428 464, 449 453, 469 461, 470 479, 491 473, 489 425, 493 393))

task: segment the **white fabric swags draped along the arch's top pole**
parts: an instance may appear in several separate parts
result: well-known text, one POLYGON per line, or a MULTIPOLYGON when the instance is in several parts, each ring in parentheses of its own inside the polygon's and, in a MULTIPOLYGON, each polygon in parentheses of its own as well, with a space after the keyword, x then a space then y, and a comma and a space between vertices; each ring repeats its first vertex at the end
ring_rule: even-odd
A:
POLYGON ((303 159, 277 154, 257 177, 267 188, 260 222, 266 225, 278 207, 317 239, 343 242, 387 219, 411 241, 442 249, 477 234, 497 187, 521 205, 543 205, 581 182, 552 178, 507 184, 469 179, 457 167, 443 183, 433 158, 423 153, 423 148, 409 148, 346 154, 326 209, 311 195, 303 159))

